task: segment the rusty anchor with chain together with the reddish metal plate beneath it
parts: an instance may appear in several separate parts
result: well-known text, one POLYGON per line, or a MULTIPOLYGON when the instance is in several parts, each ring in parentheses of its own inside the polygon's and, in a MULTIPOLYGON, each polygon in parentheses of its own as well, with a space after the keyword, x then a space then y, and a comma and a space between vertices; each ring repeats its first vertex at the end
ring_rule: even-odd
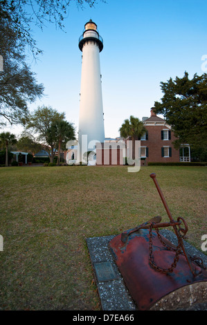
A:
POLYGON ((150 177, 170 221, 161 222, 161 216, 155 216, 115 236, 109 243, 109 250, 138 310, 150 309, 156 301, 183 286, 207 281, 203 262, 197 257, 190 257, 183 244, 188 232, 186 221, 181 216, 174 221, 156 174, 150 174, 150 177), (166 227, 173 228, 177 245, 159 233, 159 228, 166 227))

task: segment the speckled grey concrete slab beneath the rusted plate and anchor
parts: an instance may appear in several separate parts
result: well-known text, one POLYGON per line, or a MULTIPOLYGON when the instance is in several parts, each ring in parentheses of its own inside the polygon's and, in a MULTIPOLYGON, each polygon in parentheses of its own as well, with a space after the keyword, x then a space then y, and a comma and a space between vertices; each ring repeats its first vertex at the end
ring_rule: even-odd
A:
MULTIPOLYGON (((174 232, 170 230, 161 230, 160 232, 169 241, 174 243, 174 245, 177 244, 177 236, 174 232)), ((116 235, 87 238, 87 246, 91 257, 91 264, 94 270, 102 310, 137 310, 136 304, 129 294, 123 277, 108 248, 108 244, 114 236, 116 235), (98 263, 102 262, 109 263, 103 263, 101 268, 98 268, 98 270, 102 272, 102 277, 100 277, 100 275, 97 274, 96 266, 98 266, 98 263), (116 278, 111 275, 111 272, 116 278), (104 279, 104 281, 100 281, 100 279, 104 279)), ((200 257, 204 262, 204 266, 207 267, 207 256, 186 241, 183 242, 188 254, 190 256, 200 257)), ((199 307, 195 304, 191 310, 198 310, 197 308, 199 310, 206 310, 207 301, 204 301, 204 304, 199 304, 199 307)))

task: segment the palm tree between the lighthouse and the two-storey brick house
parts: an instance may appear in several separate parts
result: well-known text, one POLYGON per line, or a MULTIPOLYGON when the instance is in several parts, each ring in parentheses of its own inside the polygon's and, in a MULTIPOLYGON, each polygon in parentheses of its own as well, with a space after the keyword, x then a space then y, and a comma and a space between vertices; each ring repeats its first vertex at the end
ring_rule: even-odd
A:
POLYGON ((135 159, 135 141, 141 138, 146 131, 143 122, 131 115, 129 120, 123 122, 119 131, 121 137, 132 138, 132 159, 135 159))

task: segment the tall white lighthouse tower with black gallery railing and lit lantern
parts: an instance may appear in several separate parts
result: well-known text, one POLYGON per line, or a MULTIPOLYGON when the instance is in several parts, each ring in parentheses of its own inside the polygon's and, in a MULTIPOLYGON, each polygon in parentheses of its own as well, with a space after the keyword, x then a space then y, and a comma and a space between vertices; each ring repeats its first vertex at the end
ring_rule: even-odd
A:
POLYGON ((84 31, 79 39, 79 48, 82 51, 78 130, 81 161, 84 152, 93 150, 96 142, 105 140, 99 57, 103 41, 97 25, 92 20, 84 25, 84 31))

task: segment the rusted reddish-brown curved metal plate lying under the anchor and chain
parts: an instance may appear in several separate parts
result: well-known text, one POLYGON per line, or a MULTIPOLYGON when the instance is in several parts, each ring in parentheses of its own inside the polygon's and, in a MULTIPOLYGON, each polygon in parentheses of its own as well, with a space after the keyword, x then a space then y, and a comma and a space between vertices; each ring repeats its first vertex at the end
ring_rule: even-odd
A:
MULTIPOLYGON (((161 268, 169 268, 175 253, 161 244, 156 232, 152 231, 152 237, 154 262, 161 268)), ((166 243, 163 236, 162 239, 166 243)), ((200 273, 194 277, 182 254, 179 255, 177 267, 167 275, 152 268, 149 263, 149 230, 142 229, 132 233, 127 243, 121 241, 120 234, 110 241, 109 249, 138 310, 150 309, 156 301, 178 288, 207 281, 206 270, 195 263, 195 272, 200 273)))

